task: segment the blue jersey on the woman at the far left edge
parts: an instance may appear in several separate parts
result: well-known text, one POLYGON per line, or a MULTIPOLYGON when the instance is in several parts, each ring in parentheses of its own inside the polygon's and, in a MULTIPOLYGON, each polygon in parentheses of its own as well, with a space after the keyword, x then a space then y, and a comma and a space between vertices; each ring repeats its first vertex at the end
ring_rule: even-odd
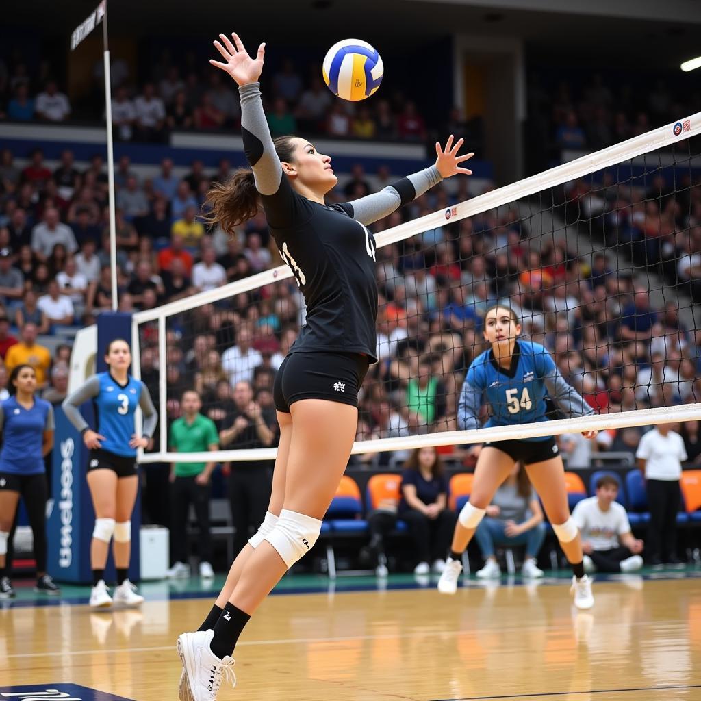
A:
POLYGON ((0 472, 13 475, 44 472, 43 434, 54 430, 51 404, 35 399, 32 408, 25 409, 17 397, 10 397, 0 404, 0 426, 3 433, 0 472))

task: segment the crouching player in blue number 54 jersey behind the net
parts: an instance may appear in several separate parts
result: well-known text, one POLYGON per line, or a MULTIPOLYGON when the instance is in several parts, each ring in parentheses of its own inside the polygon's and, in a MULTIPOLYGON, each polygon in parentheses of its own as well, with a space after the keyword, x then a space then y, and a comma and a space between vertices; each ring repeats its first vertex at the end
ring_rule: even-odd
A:
MULTIPOLYGON (((517 340, 521 325, 508 307, 493 306, 484 315, 484 338, 491 343, 472 361, 458 404, 462 429, 479 428, 479 409, 489 404, 486 426, 510 426, 547 421, 545 397, 567 416, 588 416, 592 408, 566 383, 550 353, 538 343, 517 340)), ((585 433, 593 438, 596 431, 585 433)), ((543 501, 545 512, 574 573, 572 590, 578 608, 594 604, 592 587, 584 573, 579 531, 570 517, 564 467, 552 436, 486 442, 477 458, 470 501, 455 526, 451 554, 438 583, 443 594, 454 594, 463 569, 461 554, 484 517, 494 493, 522 461, 531 483, 543 501)))

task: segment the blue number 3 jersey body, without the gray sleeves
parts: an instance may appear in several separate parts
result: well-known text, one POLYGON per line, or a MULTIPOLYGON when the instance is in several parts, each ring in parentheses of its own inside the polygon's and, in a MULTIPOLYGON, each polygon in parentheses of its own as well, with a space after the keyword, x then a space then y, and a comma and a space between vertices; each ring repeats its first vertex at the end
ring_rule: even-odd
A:
POLYGON ((103 435, 102 449, 127 458, 136 457, 136 450, 129 447, 134 435, 134 414, 139 406, 142 383, 128 375, 125 386, 119 385, 109 374, 100 372, 100 391, 93 399, 97 433, 103 435))

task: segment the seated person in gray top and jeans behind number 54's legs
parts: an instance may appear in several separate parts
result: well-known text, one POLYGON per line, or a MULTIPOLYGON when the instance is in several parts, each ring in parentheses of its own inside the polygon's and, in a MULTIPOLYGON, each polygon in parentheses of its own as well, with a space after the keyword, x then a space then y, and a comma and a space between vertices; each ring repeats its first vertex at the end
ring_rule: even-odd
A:
POLYGON ((543 510, 521 463, 515 463, 509 476, 494 494, 491 504, 486 508, 486 516, 477 526, 475 540, 486 561, 484 567, 475 573, 480 579, 501 576, 494 555, 494 548, 500 545, 525 545, 526 559, 522 576, 543 576, 543 570, 538 569, 537 565, 538 552, 545 540, 543 510))

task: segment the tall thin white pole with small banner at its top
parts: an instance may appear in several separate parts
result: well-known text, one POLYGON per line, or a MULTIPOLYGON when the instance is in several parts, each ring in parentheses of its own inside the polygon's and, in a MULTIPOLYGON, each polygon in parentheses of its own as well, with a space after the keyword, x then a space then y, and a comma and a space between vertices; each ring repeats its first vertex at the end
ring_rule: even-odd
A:
POLYGON ((117 308, 117 239, 114 203, 114 148, 112 144, 112 88, 109 70, 109 43, 107 41, 107 0, 93 10, 88 18, 81 22, 71 36, 71 50, 93 32, 102 22, 102 41, 104 43, 104 111, 107 118, 107 183, 109 192, 109 266, 111 269, 112 311, 117 308))

